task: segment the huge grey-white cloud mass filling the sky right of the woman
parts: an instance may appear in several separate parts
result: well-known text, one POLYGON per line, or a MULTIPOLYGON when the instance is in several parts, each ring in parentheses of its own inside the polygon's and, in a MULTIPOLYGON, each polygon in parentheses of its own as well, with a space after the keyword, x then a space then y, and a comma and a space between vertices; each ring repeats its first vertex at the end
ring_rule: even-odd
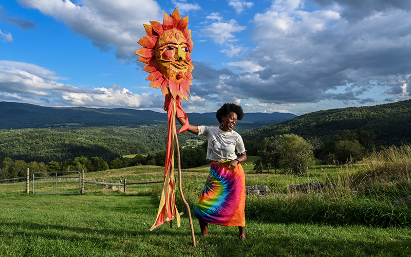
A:
MULTIPOLYGON (((242 68, 238 73, 204 82, 210 86, 209 97, 218 89, 222 98, 276 104, 329 99, 364 104, 376 102, 377 96, 380 101, 409 99, 408 6, 370 0, 370 6, 376 2, 386 8, 350 19, 344 10, 354 5, 325 2, 320 9, 307 10, 302 0, 278 0, 257 13, 251 31, 257 47, 246 58, 228 64, 242 68), (340 87, 346 92, 336 91, 340 87), (378 93, 367 96, 371 91, 378 93)), ((217 34, 213 38, 216 43, 217 34)), ((229 39, 226 37, 226 42, 229 39)), ((205 90, 200 93, 205 97, 205 90)))

